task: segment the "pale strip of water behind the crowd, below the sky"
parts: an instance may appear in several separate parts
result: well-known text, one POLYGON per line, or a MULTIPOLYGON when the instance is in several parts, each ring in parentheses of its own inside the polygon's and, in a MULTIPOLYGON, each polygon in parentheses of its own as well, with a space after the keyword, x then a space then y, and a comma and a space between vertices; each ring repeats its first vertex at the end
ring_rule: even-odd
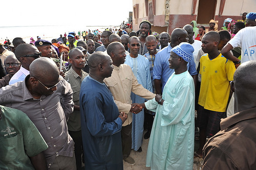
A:
POLYGON ((30 38, 33 37, 36 40, 36 37, 39 36, 41 39, 46 39, 51 41, 53 38, 58 38, 61 34, 62 36, 69 32, 78 31, 93 31, 99 30, 104 31, 106 28, 118 28, 118 26, 2 26, 0 27, 0 42, 3 43, 5 39, 9 39, 10 42, 15 37, 22 37, 26 43, 30 42, 30 38))

